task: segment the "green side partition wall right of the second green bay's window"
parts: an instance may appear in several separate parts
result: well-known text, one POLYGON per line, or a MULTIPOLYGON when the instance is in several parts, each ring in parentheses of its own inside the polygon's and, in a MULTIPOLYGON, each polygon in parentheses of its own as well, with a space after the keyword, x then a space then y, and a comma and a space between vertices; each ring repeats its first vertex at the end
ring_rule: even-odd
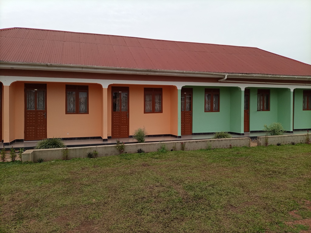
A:
POLYGON ((277 89, 277 122, 286 131, 293 131, 293 92, 290 89, 277 89))

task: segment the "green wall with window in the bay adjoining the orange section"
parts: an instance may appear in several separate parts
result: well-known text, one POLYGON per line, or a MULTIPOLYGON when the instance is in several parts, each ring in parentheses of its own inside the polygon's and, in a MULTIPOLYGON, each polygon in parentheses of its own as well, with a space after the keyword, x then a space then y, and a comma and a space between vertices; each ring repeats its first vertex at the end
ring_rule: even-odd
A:
POLYGON ((204 91, 211 87, 193 88, 193 133, 229 131, 242 133, 244 92, 238 88, 213 87, 220 89, 220 111, 204 112, 204 91))

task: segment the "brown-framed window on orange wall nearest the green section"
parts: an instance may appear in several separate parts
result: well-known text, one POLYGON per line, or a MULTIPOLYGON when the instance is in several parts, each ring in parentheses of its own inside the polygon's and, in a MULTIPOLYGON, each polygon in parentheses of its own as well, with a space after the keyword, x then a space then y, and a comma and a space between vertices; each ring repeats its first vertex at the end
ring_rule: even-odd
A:
POLYGON ((162 88, 144 88, 144 113, 162 112, 162 88))

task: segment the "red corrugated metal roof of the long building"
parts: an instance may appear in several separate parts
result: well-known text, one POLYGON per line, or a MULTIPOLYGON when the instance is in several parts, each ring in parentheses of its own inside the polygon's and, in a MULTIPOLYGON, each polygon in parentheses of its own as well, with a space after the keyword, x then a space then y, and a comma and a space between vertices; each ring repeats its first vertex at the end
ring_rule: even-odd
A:
POLYGON ((0 61, 311 76, 311 65, 258 48, 29 28, 0 30, 0 61))

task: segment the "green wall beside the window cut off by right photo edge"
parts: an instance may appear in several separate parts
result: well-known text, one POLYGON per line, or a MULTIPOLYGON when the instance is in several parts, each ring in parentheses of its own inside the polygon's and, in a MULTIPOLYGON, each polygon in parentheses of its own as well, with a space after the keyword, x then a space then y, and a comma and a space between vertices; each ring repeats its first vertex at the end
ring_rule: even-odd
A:
POLYGON ((302 110, 303 89, 295 89, 294 129, 311 129, 311 111, 302 110))

